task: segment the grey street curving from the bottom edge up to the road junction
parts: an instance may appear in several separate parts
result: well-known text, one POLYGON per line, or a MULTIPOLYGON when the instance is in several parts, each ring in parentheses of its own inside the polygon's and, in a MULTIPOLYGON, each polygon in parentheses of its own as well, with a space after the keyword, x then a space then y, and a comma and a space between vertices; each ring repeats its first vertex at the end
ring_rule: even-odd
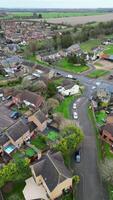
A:
MULTIPOLYGON (((57 71, 59 72, 59 70, 57 71)), ((64 71, 60 71, 60 73, 64 77, 68 74, 64 71)), ((94 92, 92 87, 96 86, 97 82, 100 82, 100 85, 102 84, 104 87, 113 87, 113 85, 109 81, 89 79, 84 75, 73 74, 73 77, 85 86, 84 95, 76 101, 78 123, 85 135, 84 142, 81 145, 81 162, 75 164, 75 171, 80 176, 77 200, 108 200, 106 189, 99 174, 95 132, 93 124, 88 118, 87 108, 88 100, 94 92)))

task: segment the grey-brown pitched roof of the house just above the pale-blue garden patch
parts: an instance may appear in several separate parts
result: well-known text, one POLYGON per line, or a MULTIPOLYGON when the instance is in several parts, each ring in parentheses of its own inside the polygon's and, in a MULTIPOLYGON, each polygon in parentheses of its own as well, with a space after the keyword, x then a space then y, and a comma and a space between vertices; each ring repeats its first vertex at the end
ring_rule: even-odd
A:
POLYGON ((22 120, 20 120, 20 121, 16 122, 14 125, 12 125, 10 128, 8 128, 7 136, 9 138, 12 138, 14 141, 17 141, 28 130, 29 130, 28 125, 25 124, 22 120))

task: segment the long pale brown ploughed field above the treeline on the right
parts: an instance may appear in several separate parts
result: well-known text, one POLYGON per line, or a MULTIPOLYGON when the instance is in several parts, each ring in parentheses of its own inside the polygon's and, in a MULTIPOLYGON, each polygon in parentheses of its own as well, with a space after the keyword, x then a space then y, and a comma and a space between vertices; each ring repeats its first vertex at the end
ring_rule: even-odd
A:
POLYGON ((64 17, 64 18, 53 18, 48 19, 48 22, 54 24, 71 24, 72 26, 78 24, 86 24, 91 22, 107 22, 113 19, 113 14, 102 14, 93 16, 76 16, 76 17, 64 17))

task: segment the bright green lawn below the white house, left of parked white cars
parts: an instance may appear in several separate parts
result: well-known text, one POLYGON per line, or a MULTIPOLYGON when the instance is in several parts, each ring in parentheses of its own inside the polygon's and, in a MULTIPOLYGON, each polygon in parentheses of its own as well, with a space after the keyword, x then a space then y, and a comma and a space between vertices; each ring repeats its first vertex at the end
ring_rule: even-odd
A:
POLYGON ((65 118, 70 118, 70 104, 74 101, 75 96, 66 97, 64 101, 55 109, 55 112, 62 113, 65 118))

